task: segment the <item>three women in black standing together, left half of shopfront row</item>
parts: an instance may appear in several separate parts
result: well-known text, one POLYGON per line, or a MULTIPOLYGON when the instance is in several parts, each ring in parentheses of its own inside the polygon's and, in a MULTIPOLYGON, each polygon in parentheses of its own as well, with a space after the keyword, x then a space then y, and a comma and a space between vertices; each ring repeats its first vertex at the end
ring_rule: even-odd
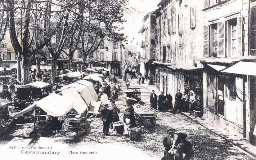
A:
POLYGON ((155 94, 155 90, 152 90, 152 93, 150 95, 150 107, 157 110, 157 103, 158 103, 158 110, 159 111, 165 111, 170 110, 173 108, 173 97, 168 92, 166 96, 164 96, 163 92, 160 93, 158 96, 157 101, 157 95, 155 94))

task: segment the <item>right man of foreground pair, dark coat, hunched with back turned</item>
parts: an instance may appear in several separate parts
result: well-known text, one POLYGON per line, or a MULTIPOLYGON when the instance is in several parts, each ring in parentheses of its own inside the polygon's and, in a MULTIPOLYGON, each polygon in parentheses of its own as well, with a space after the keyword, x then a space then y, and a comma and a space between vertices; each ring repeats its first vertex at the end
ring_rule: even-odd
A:
POLYGON ((175 160, 190 160, 194 156, 192 144, 186 140, 186 133, 180 132, 177 134, 180 141, 177 145, 177 151, 174 156, 175 160))

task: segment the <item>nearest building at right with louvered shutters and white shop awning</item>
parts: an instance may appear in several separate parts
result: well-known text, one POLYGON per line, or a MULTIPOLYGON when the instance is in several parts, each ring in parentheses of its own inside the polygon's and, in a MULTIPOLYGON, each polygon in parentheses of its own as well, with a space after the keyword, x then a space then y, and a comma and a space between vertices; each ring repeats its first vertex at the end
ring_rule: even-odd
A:
POLYGON ((255 145, 256 63, 254 46, 249 45, 254 40, 249 30, 255 25, 250 18, 255 16, 250 6, 249 0, 204 0, 205 58, 199 61, 204 65, 204 119, 244 138, 252 137, 255 145))

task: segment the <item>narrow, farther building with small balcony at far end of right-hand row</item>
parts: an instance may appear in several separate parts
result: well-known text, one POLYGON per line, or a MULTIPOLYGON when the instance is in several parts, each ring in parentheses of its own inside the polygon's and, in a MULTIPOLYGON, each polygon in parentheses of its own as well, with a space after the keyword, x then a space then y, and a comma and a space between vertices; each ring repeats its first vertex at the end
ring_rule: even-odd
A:
POLYGON ((150 78, 150 82, 155 82, 155 44, 157 38, 156 28, 156 12, 158 10, 147 13, 142 20, 140 34, 140 73, 146 78, 150 78))

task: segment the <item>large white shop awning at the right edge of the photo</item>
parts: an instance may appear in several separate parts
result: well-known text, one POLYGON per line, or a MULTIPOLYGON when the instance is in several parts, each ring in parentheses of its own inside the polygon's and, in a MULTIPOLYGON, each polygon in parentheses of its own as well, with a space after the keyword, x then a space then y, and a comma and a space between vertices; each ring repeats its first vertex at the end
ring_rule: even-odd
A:
POLYGON ((255 62, 238 62, 231 67, 223 70, 224 73, 244 74, 256 76, 256 63, 255 62))

